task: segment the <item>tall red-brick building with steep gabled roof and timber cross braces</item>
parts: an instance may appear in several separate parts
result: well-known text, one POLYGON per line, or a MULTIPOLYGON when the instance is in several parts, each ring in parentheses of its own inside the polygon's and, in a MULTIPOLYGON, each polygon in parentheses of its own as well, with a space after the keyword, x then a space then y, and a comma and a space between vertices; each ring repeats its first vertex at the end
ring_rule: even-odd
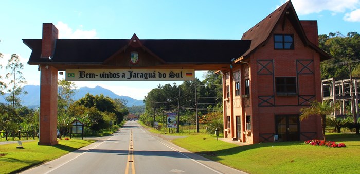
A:
MULTIPOLYGON (((251 44, 223 74, 224 137, 246 142, 322 138, 321 120, 300 108, 321 101, 316 21, 300 21, 291 1, 246 31, 251 44)), ((220 72, 220 71, 219 71, 220 72)))

